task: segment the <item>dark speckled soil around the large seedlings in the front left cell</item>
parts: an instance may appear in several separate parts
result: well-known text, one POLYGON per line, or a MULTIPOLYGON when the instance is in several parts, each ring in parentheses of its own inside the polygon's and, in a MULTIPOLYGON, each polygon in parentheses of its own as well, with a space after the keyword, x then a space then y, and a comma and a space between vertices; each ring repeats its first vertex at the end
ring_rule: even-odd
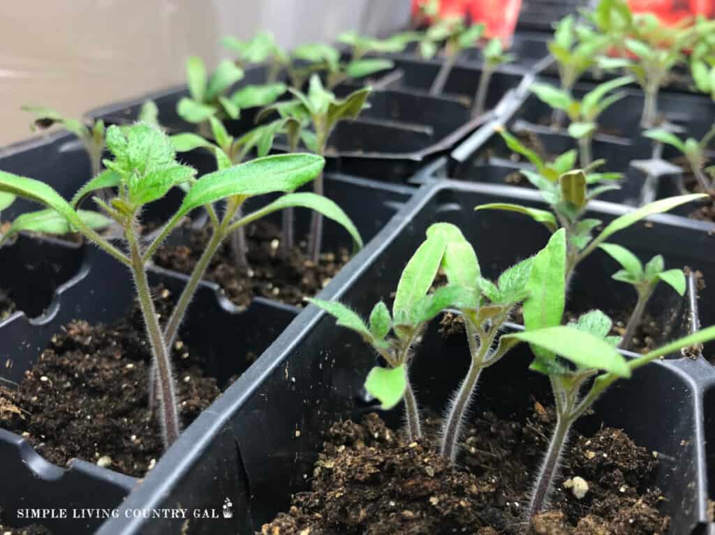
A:
MULTIPOLYGON (((154 302, 167 318, 169 291, 156 289, 154 302)), ((220 390, 204 376, 200 356, 180 340, 172 349, 179 414, 187 426, 220 390)), ((149 355, 137 304, 111 325, 73 321, 52 338, 17 391, 5 391, 0 426, 59 466, 79 457, 142 477, 164 451, 159 422, 148 408, 149 355)))

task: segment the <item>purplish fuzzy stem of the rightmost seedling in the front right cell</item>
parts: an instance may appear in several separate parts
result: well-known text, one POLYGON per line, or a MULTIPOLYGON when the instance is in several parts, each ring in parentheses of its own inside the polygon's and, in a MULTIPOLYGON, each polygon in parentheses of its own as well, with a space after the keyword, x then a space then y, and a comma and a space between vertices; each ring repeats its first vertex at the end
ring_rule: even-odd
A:
POLYGON ((535 515, 543 512, 546 508, 546 502, 548 500, 548 495, 551 492, 553 479, 556 477, 556 472, 558 471, 561 454, 564 446, 566 446, 568 431, 571 429, 571 424, 573 424, 574 421, 571 414, 571 404, 568 403, 568 396, 563 395, 563 384, 561 384, 561 379, 558 377, 550 377, 550 379, 553 395, 557 400, 556 407, 558 414, 556 418, 556 426, 553 428, 551 441, 549 442, 548 450, 546 451, 546 457, 543 459, 538 479, 536 479, 536 485, 534 486, 531 494, 531 502, 529 503, 528 509, 529 520, 533 519, 535 515), (563 401, 560 402, 558 401, 559 399, 563 401))

